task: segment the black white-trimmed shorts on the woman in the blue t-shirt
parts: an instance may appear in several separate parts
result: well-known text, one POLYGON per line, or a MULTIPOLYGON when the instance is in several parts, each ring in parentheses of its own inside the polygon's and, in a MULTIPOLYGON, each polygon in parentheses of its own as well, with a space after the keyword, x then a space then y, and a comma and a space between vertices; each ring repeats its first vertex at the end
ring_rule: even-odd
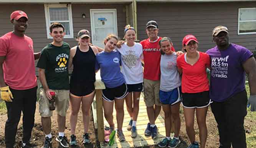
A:
POLYGON ((126 83, 114 88, 108 88, 102 90, 102 98, 106 101, 114 101, 115 98, 123 99, 128 94, 126 83))

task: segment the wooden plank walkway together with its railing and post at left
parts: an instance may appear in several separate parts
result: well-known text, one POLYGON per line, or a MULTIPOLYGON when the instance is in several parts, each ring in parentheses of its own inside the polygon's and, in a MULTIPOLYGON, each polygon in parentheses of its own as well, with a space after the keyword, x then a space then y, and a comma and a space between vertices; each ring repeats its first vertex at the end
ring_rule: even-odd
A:
MULTIPOLYGON (((104 127, 103 125, 109 126, 107 124, 106 119, 103 117, 104 114, 102 114, 102 95, 101 95, 101 89, 105 89, 104 83, 101 81, 100 77, 100 72, 96 73, 96 82, 94 83, 95 88, 96 88, 96 96, 94 98, 94 101, 92 103, 92 114, 93 114, 93 120, 94 120, 94 127, 97 129, 97 137, 98 140, 104 141, 104 127)), ((140 104, 139 104, 139 115, 137 119, 137 137, 136 138, 131 138, 130 137, 130 131, 126 129, 130 117, 126 109, 126 105, 124 105, 124 123, 123 123, 123 132, 126 137, 126 141, 124 142, 119 142, 117 138, 117 134, 115 137, 115 143, 112 146, 112 148, 131 148, 131 147, 143 147, 143 146, 152 146, 152 145, 157 145, 163 137, 165 137, 165 127, 164 127, 164 119, 159 115, 155 124, 158 127, 158 135, 157 138, 154 140, 151 138, 151 136, 146 137, 144 135, 145 128, 147 126, 147 123, 149 122, 149 119, 147 117, 147 110, 146 106, 144 103, 144 94, 141 93, 140 96, 140 104)), ((125 104, 125 102, 124 102, 125 104)), ((114 116, 114 124, 117 127, 117 122, 116 122, 116 111, 114 109, 113 111, 113 116, 114 116)), ((171 133, 171 136, 174 134, 171 133)), ((106 142, 101 142, 101 148, 107 148, 107 143, 106 142)))

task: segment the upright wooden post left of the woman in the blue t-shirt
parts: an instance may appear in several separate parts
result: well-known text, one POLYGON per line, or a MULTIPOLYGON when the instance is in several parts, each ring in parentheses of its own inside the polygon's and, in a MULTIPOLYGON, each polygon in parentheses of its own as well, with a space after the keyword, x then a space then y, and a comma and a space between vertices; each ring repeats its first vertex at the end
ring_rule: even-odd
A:
POLYGON ((96 108, 97 108, 97 123, 98 123, 98 140, 99 142, 104 141, 104 120, 103 120, 103 101, 102 101, 102 90, 96 89, 96 108))

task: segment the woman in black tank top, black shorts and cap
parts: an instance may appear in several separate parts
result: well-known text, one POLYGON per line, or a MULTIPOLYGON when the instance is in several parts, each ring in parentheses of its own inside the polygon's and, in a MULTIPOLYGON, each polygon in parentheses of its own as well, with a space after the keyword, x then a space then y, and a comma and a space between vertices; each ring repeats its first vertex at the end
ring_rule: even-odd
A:
POLYGON ((89 112, 95 93, 95 55, 98 52, 96 47, 89 46, 90 33, 88 30, 80 30, 77 40, 79 42, 79 45, 71 48, 69 54, 69 67, 72 67, 73 65, 73 72, 70 78, 69 96, 71 104, 71 146, 77 145, 75 131, 81 102, 84 121, 83 143, 91 143, 88 137, 90 120, 89 112))

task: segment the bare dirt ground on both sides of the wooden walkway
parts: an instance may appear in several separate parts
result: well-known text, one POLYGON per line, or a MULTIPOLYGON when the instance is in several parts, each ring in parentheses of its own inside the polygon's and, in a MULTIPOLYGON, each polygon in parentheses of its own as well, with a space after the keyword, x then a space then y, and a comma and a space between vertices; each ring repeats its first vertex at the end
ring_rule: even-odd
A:
MULTIPOLYGON (((32 132, 32 138, 31 138, 31 143, 37 145, 37 148, 41 148, 43 146, 43 142, 45 140, 45 134, 43 133, 43 128, 41 126, 41 117, 39 115, 38 112, 38 104, 37 104, 37 110, 36 110, 36 114, 35 114, 35 127, 33 128, 33 132, 32 132)), ((70 124, 69 124, 69 115, 70 115, 70 108, 68 110, 67 113, 67 119, 66 119, 66 135, 68 137, 68 140, 70 140, 70 124)), ((164 112, 161 111, 160 115, 162 117, 164 117, 164 112)), ((185 119, 183 116, 183 110, 180 110, 180 116, 181 116, 181 130, 180 130, 180 139, 182 140, 182 144, 180 146, 178 146, 178 148, 187 148, 187 145, 190 144, 189 140, 188 140, 188 136, 186 133, 186 129, 185 129, 185 119)), ((5 127, 5 121, 7 119, 7 115, 0 115, 0 148, 5 148, 4 145, 4 127, 5 127)), ((199 140, 199 130, 198 130, 198 126, 196 124, 196 119, 195 119, 195 131, 196 131, 196 140, 199 140)), ((214 116, 210 110, 210 108, 208 109, 208 113, 207 113, 207 118, 206 118, 206 124, 208 127, 208 138, 207 138, 207 142, 206 142, 206 148, 217 148, 219 145, 218 142, 218 129, 216 127, 216 121, 214 119, 214 116)), ((244 123, 244 127, 245 130, 248 131, 250 130, 249 128, 251 127, 251 125, 254 124, 253 121, 250 120, 245 120, 244 123)), ((18 141, 21 140, 22 137, 22 120, 20 121, 20 124, 18 126, 18 132, 17 132, 17 136, 16 136, 16 142, 18 143, 18 141)), ((59 145, 56 142, 55 138, 58 134, 58 126, 57 126, 57 122, 56 122, 56 114, 52 117, 52 135, 53 135, 53 148, 58 148, 59 145)), ((90 121, 90 126, 89 126, 89 135, 91 137, 91 141, 92 144, 90 145, 86 145, 86 148, 96 148, 98 147, 97 143, 96 143, 96 139, 95 139, 95 132, 94 132, 94 125, 93 125, 93 119, 92 119, 92 115, 91 115, 91 121, 90 121)), ((82 122, 82 113, 81 111, 79 112, 78 115, 78 123, 76 126, 76 137, 79 143, 79 147, 84 148, 84 145, 82 143, 82 138, 83 138, 83 122, 82 122)), ((158 146, 150 146, 150 148, 157 148, 158 146)), ((16 145, 15 148, 18 148, 18 146, 16 145)))

